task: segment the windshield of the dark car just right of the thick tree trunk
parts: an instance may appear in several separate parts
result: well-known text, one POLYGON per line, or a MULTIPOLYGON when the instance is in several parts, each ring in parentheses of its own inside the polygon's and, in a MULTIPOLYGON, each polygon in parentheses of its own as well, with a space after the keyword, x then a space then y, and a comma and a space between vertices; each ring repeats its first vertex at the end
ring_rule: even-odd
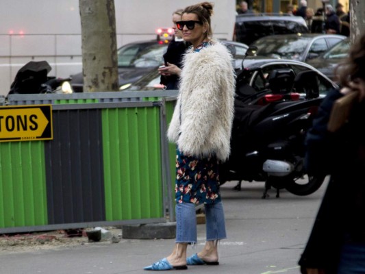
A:
POLYGON ((118 49, 118 66, 153 67, 164 62, 167 45, 127 45, 118 49))

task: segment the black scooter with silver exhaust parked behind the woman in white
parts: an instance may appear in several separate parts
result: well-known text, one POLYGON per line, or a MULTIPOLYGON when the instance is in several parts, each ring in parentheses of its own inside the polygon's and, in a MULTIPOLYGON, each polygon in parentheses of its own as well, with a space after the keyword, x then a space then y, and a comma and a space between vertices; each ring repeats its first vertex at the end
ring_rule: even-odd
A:
POLYGON ((276 197, 283 188, 301 196, 318 190, 325 177, 307 175, 303 160, 305 133, 321 101, 316 72, 304 71, 294 79, 291 69, 273 71, 263 92, 238 96, 221 184, 238 180, 235 189, 240 190, 242 180, 265 182, 263 199, 271 187, 277 189, 276 197))

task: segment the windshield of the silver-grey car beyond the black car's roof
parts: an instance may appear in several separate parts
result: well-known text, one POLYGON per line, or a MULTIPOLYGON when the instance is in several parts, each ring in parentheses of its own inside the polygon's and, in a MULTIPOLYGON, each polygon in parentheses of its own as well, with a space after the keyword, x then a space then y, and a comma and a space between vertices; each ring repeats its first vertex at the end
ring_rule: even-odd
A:
POLYGON ((297 59, 309 44, 311 38, 303 36, 277 37, 267 36, 253 42, 253 46, 257 47, 257 55, 272 58, 297 59))

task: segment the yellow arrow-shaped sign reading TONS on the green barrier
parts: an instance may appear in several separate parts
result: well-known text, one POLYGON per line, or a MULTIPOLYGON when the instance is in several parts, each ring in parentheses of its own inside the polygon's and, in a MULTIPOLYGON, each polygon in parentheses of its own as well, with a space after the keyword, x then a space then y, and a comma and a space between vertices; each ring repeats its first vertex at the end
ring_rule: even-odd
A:
POLYGON ((51 139, 52 105, 0 107, 0 142, 51 139))

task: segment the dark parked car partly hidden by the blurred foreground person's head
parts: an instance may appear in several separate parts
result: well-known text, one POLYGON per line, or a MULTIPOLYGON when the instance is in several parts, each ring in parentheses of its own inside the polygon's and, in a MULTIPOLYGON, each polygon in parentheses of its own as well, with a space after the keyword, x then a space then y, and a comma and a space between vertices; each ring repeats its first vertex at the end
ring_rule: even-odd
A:
POLYGON ((350 43, 350 38, 346 38, 319 55, 318 58, 307 60, 307 63, 335 81, 334 69, 349 55, 350 43))

